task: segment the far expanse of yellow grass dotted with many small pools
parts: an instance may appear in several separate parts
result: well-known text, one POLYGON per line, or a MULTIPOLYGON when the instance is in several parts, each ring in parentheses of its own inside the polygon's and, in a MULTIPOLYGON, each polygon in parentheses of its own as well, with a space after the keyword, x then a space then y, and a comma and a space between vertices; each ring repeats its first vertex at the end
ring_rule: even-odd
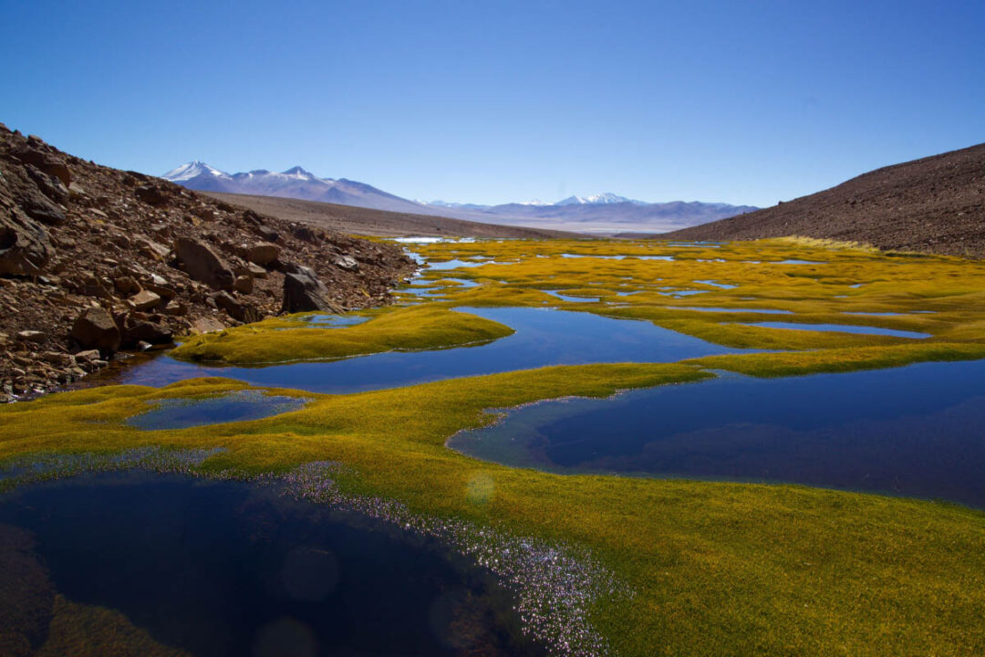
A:
MULTIPOLYGON (((943 353, 949 349, 943 345, 985 342, 985 264, 953 257, 898 257, 866 245, 795 237, 731 242, 717 248, 666 241, 510 240, 425 244, 419 250, 440 260, 518 260, 484 261, 453 274, 426 272, 432 285, 444 285, 441 280, 449 276, 479 283, 466 290, 447 286, 435 300, 449 306, 553 305, 644 319, 715 344, 768 351, 904 348, 921 342, 936 344, 936 353, 943 353), (612 257, 616 255, 627 257, 612 257), (642 259, 645 256, 675 260, 642 259), (784 260, 819 264, 782 264, 784 260), (736 287, 725 290, 702 281, 736 287), (854 287, 857 284, 862 286, 854 287), (601 302, 562 300, 542 290, 598 296, 601 302), (701 294, 673 296, 679 291, 701 294), (756 312, 763 309, 785 314, 756 312), (804 329, 748 325, 769 321, 804 324, 804 329), (812 324, 871 326, 931 337, 817 331, 812 324)), ((897 349, 891 360, 898 361, 900 354, 924 353, 921 349, 897 349)), ((825 368, 832 366, 829 361, 825 368)))

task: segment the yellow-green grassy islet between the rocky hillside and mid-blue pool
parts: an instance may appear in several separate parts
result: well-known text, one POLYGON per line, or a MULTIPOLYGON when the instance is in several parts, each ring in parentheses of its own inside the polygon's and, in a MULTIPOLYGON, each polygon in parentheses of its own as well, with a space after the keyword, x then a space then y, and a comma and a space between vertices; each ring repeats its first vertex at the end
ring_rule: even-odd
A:
POLYGON ((300 321, 301 316, 265 319, 195 336, 173 350, 171 356, 238 365, 314 361, 395 350, 460 347, 513 333, 508 326, 438 304, 377 311, 364 323, 336 328, 312 327, 300 321))

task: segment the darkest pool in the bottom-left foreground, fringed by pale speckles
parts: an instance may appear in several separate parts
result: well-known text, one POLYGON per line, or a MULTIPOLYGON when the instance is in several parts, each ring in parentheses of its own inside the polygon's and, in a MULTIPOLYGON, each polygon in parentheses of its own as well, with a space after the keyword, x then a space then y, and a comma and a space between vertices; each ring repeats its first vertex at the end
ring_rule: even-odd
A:
POLYGON ((35 535, 68 600, 195 655, 542 654, 466 559, 269 488, 84 475, 0 496, 3 524, 35 535))

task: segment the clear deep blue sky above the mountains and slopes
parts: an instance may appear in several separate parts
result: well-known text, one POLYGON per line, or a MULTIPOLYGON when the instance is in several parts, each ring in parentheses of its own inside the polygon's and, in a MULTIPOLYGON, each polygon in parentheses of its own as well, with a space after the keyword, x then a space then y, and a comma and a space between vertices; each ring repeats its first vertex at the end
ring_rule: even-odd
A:
POLYGON ((985 3, 2 0, 0 121, 150 173, 773 205, 985 141, 985 3))

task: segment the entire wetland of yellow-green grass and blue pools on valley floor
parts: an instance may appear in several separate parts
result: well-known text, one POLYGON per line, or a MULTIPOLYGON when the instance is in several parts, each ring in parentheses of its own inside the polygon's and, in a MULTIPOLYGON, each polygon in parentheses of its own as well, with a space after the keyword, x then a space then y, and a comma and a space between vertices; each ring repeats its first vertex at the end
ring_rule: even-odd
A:
POLYGON ((391 306, 0 408, 0 645, 985 654, 985 264, 403 246, 391 306))

